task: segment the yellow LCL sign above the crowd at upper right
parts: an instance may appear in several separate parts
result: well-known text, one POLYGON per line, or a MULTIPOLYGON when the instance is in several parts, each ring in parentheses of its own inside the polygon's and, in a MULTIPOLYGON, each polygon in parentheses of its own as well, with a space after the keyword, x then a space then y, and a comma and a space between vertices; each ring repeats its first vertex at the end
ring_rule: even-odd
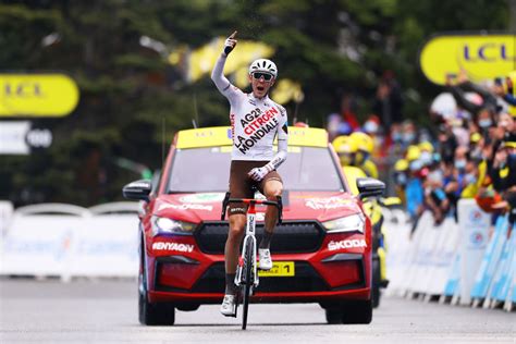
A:
POLYGON ((446 75, 465 70, 474 82, 504 77, 516 70, 515 35, 441 35, 422 47, 419 64, 432 83, 444 85, 446 75))

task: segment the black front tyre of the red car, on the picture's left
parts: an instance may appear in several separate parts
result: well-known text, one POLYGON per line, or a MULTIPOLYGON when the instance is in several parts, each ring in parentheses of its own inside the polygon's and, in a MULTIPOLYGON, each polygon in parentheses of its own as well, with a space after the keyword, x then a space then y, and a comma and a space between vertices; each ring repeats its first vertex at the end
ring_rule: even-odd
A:
POLYGON ((138 319, 145 325, 172 325, 175 321, 175 309, 165 303, 151 304, 147 298, 145 266, 142 265, 138 275, 138 319))

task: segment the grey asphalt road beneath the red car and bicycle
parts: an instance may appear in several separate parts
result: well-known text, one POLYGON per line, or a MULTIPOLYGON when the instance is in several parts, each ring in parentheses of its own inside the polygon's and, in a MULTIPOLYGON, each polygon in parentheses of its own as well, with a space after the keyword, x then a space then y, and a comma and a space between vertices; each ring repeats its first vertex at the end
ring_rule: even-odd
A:
POLYGON ((137 322, 135 281, 0 280, 0 343, 516 343, 516 314, 382 299, 369 325, 328 325, 318 305, 251 305, 246 331, 218 306, 137 322))

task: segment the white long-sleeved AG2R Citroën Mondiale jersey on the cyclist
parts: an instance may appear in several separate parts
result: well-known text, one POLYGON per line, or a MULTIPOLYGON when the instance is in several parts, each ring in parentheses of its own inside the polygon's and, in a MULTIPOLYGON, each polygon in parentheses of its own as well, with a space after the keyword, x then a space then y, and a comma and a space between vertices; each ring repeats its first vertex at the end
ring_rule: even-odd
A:
POLYGON ((211 78, 231 105, 232 160, 274 160, 277 168, 286 158, 286 110, 268 96, 259 99, 233 86, 222 74, 224 62, 224 57, 219 58, 211 78), (279 150, 285 150, 281 157, 274 156, 272 150, 277 135, 279 150))

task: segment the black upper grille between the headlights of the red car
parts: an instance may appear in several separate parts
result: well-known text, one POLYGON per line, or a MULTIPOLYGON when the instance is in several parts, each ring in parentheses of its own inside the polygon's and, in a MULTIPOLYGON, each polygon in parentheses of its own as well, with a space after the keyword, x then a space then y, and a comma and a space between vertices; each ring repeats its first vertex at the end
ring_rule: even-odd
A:
MULTIPOLYGON (((224 254, 228 238, 228 222, 202 223, 195 232, 200 250, 211 255, 224 254)), ((320 248, 324 230, 316 221, 283 222, 277 225, 271 241, 273 254, 312 253, 320 248)), ((256 225, 257 242, 263 235, 263 224, 256 225)))

